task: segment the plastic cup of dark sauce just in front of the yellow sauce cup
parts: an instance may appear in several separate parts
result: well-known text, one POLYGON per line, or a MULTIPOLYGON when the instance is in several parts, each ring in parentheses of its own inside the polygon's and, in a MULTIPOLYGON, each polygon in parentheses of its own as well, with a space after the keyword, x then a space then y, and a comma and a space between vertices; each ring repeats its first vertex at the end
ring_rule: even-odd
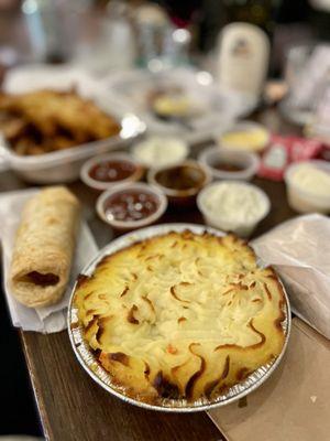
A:
POLYGON ((213 179, 216 180, 243 180, 250 181, 257 172, 260 159, 255 153, 242 150, 228 150, 219 147, 210 147, 205 149, 198 157, 198 160, 204 163, 213 179), (241 168, 240 171, 218 170, 213 165, 217 162, 223 162, 241 168))

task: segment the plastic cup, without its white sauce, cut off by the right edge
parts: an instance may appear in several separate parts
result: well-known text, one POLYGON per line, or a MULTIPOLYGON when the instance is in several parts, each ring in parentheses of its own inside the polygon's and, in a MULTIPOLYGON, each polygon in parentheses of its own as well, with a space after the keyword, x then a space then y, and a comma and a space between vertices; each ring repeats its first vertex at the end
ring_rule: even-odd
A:
POLYGON ((328 161, 311 160, 289 165, 284 176, 288 203, 290 207, 298 213, 330 213, 330 187, 328 195, 317 195, 314 192, 309 192, 299 187, 299 185, 297 185, 297 183, 295 183, 293 180, 293 175, 297 169, 306 163, 323 170, 330 175, 330 163, 328 161))

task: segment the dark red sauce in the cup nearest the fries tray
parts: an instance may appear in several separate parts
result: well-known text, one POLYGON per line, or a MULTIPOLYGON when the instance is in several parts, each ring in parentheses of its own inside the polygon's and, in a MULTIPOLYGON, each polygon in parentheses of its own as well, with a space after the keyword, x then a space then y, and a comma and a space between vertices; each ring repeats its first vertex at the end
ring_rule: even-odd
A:
POLYGON ((89 176, 100 182, 116 182, 130 178, 136 171, 133 162, 122 159, 103 161, 89 170, 89 176))

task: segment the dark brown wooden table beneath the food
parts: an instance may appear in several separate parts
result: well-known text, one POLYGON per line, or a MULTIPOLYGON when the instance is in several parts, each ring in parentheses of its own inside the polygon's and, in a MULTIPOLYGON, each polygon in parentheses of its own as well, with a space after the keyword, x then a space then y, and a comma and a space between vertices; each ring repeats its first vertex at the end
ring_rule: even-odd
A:
MULTIPOLYGON (((284 125, 274 111, 264 111, 257 119, 277 132, 297 129, 284 125)), ((198 147, 195 148, 195 153, 198 147)), ((272 211, 255 236, 268 230, 295 213, 288 207, 283 183, 255 179, 272 200, 272 211)), ((10 172, 0 174, 0 191, 26 185, 10 172)), ((113 233, 96 216, 96 195, 82 183, 69 185, 84 204, 87 219, 99 247, 113 238, 113 233)), ((197 211, 167 213, 163 222, 201 223, 197 211)), ((112 397, 80 367, 70 348, 67 332, 42 335, 21 332, 22 345, 31 376, 41 420, 47 439, 55 441, 216 441, 220 432, 205 412, 169 415, 144 410, 112 397)))

